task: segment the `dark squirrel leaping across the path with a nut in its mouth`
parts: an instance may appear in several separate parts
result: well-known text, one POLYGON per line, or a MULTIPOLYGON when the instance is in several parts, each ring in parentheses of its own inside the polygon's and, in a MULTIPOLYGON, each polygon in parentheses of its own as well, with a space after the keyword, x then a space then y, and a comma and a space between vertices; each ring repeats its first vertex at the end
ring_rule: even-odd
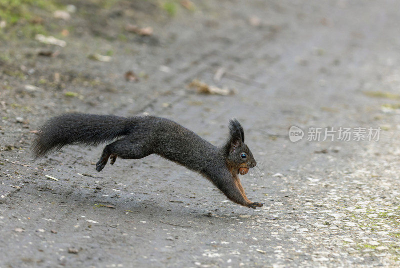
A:
POLYGON ((108 158, 112 165, 117 157, 140 159, 155 153, 200 173, 237 204, 250 208, 263 205, 247 199, 238 177, 238 174, 246 174, 256 162, 244 144, 244 131, 236 119, 229 121, 229 137, 225 144, 214 146, 166 118, 62 114, 50 118, 38 129, 31 150, 33 158, 37 159, 68 144, 98 146, 111 141, 96 163, 97 172, 104 168, 108 158))

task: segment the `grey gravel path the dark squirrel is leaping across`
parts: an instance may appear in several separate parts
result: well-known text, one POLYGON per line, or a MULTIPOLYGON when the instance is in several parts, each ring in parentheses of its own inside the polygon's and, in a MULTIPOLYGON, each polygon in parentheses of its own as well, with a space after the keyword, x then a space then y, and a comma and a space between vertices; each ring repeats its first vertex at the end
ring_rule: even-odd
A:
POLYGON ((0 44, 1 268, 400 265, 399 2, 198 1, 172 18, 151 1, 73 4, 70 21, 55 21, 73 26, 64 48, 0 44), (193 79, 235 94, 197 94, 193 79), (146 112, 215 144, 236 117, 260 168, 243 186, 264 207, 235 205, 153 155, 100 173, 101 146, 32 161, 30 131, 71 111, 146 112), (308 141, 310 127, 381 131, 308 141))

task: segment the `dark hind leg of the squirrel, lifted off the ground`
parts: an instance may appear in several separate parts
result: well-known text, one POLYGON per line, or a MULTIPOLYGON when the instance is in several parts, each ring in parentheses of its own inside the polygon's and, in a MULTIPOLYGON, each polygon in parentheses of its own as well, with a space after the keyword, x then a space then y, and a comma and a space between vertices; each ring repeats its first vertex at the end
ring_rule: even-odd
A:
POLYGON ((101 171, 107 164, 108 158, 110 164, 115 163, 117 157, 123 159, 140 159, 152 154, 148 143, 144 140, 132 140, 129 137, 116 140, 105 146, 100 160, 96 163, 97 172, 101 171))

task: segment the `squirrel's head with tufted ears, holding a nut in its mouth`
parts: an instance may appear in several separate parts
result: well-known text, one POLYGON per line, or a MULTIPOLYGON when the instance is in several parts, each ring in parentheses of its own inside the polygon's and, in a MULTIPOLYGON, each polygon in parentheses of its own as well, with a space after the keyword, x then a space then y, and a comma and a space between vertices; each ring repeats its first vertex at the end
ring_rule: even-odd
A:
POLYGON ((229 121, 229 139, 224 149, 226 163, 232 173, 244 175, 257 164, 250 149, 244 144, 244 131, 236 119, 229 121))

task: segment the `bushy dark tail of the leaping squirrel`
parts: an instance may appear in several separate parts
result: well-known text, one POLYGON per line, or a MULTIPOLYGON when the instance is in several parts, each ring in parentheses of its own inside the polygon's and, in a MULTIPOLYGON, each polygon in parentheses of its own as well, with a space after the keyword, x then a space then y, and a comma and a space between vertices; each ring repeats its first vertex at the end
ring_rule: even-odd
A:
POLYGON ((47 120, 31 146, 33 158, 43 157, 68 144, 96 146, 131 132, 140 117, 63 114, 47 120))

